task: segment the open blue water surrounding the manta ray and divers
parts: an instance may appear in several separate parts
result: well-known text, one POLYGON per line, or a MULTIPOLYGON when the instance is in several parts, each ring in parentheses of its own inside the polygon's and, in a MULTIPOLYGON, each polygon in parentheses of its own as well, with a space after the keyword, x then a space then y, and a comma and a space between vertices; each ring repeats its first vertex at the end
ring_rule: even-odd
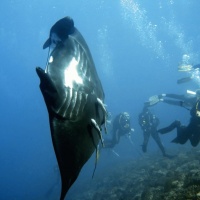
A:
MULTIPOLYGON (((59 173, 50 138, 48 114, 39 90, 35 67, 45 67, 42 49, 51 26, 71 16, 93 55, 102 81, 107 109, 115 116, 131 114, 134 146, 122 138, 115 148, 101 154, 96 173, 112 162, 141 156, 143 136, 137 122, 143 102, 155 94, 196 90, 198 77, 177 85, 187 76, 178 72, 183 55, 200 62, 199 0, 7 0, 0 6, 0 199, 59 199, 59 173), (47 192, 51 189, 49 196, 47 192)), ((152 108, 160 127, 174 119, 188 123, 183 108, 159 104, 152 108)), ((162 136, 167 152, 175 132, 162 136)), ((186 144, 191 148, 189 144, 186 144)), ((151 139, 148 154, 159 152, 151 139)), ((91 181, 94 157, 84 166, 74 188, 91 181)))

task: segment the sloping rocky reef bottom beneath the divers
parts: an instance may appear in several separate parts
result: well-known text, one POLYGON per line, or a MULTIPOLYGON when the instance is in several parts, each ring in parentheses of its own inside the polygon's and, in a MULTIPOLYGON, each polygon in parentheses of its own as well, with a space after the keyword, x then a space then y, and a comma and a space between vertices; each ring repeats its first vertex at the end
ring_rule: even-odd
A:
POLYGON ((115 164, 83 184, 74 200, 200 200, 200 149, 115 164))

